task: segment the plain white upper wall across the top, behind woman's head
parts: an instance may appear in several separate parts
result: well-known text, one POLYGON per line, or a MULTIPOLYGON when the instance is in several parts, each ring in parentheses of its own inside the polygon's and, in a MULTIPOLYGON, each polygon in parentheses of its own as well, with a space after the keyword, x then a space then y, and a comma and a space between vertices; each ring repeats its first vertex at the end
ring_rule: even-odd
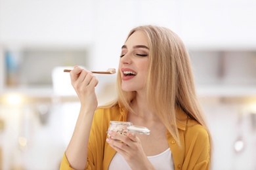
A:
POLYGON ((190 48, 256 46, 253 0, 1 0, 0 3, 1 45, 90 45, 91 67, 95 69, 117 67, 121 44, 129 30, 140 24, 169 27, 190 48))

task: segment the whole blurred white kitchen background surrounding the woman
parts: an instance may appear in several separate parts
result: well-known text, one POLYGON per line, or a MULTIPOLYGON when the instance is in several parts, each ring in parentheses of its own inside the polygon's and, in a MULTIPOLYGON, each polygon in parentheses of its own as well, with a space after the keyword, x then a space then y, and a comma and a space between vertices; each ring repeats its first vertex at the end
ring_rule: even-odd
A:
MULTIPOLYGON (((79 112, 63 69, 118 67, 137 25, 175 31, 192 59, 216 170, 256 169, 256 1, 0 0, 0 169, 58 169, 79 112)), ((99 105, 116 75, 97 75, 99 105)))

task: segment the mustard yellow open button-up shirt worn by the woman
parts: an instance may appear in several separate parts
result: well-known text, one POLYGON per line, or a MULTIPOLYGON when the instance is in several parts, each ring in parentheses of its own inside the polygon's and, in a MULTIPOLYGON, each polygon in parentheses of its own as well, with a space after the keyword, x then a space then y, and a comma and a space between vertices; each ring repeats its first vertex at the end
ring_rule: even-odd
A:
MULTIPOLYGON (((181 109, 177 109, 177 115, 180 120, 177 121, 177 127, 182 149, 167 131, 167 140, 173 155, 175 170, 209 169, 210 144, 207 131, 198 122, 189 118, 181 109)), ((109 122, 110 120, 126 121, 126 118, 127 109, 120 107, 120 105, 96 110, 89 137, 85 169, 108 169, 110 161, 116 154, 116 150, 106 143, 106 131, 108 131, 109 122)), ((72 169, 66 154, 62 158, 60 169, 72 169)))

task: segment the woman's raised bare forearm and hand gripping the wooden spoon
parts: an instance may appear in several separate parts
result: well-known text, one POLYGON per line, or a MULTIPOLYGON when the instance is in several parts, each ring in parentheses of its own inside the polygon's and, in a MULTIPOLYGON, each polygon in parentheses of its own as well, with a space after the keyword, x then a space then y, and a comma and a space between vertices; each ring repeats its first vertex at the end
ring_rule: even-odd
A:
POLYGON ((74 133, 66 150, 66 161, 63 163, 64 169, 72 167, 74 169, 84 169, 87 163, 88 141, 93 122, 93 115, 98 101, 95 93, 95 86, 98 80, 95 75, 81 67, 75 66, 70 71, 71 84, 77 93, 81 108, 75 124, 74 133))

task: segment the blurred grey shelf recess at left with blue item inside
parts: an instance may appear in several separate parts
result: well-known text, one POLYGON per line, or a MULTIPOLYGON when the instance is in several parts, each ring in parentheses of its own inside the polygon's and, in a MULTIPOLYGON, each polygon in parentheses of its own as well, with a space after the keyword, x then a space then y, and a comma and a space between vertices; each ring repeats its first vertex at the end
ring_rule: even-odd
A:
POLYGON ((85 47, 29 47, 1 50, 1 83, 4 88, 51 87, 55 67, 89 65, 85 47))

